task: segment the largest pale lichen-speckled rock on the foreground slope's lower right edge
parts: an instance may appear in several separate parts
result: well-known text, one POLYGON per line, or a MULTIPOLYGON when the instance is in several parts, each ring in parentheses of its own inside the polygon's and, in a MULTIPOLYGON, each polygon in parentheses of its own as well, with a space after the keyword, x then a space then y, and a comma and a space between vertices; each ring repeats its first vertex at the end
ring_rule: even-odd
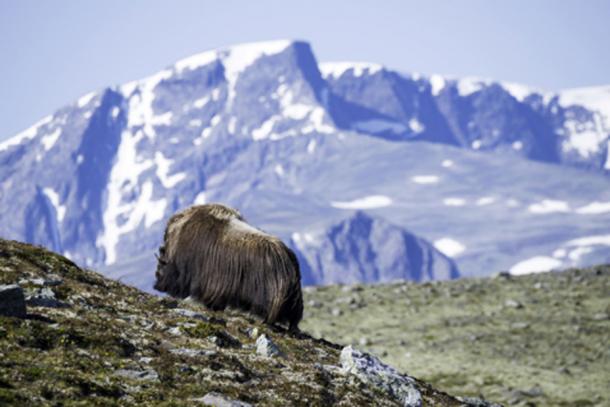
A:
POLYGON ((376 357, 346 346, 341 351, 343 373, 352 374, 394 397, 405 407, 421 407, 423 400, 412 377, 401 375, 376 357))

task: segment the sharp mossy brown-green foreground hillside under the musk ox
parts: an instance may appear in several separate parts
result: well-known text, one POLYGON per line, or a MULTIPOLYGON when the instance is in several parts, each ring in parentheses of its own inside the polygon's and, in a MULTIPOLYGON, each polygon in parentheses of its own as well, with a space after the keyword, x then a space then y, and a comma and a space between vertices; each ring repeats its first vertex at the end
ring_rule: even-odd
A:
MULTIPOLYGON (((25 319, 0 317, 0 405, 183 406, 211 391, 256 405, 397 404, 342 374, 338 345, 236 311, 149 295, 42 248, 0 239, 0 284, 32 292, 40 288, 36 279, 51 275, 62 280, 50 288, 67 306, 28 306, 25 319), (284 356, 257 355, 254 329, 284 356)), ((459 404, 420 386, 426 405, 459 404)))

